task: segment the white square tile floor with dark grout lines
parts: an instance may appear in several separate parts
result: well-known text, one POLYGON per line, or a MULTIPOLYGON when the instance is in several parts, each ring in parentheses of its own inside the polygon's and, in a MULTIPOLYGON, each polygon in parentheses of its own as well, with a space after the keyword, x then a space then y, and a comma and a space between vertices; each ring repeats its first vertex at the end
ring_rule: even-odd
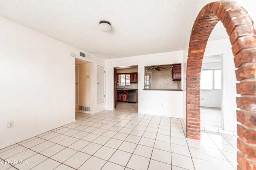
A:
POLYGON ((182 119, 115 111, 76 113, 76 121, 0 150, 1 170, 234 170, 236 137, 202 131, 187 139, 182 119))

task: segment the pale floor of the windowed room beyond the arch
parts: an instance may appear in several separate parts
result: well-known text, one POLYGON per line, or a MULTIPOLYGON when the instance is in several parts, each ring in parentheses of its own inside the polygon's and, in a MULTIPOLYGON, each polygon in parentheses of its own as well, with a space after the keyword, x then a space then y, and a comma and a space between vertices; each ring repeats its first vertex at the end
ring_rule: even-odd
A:
POLYGON ((201 106, 200 113, 201 126, 222 128, 221 108, 201 106))

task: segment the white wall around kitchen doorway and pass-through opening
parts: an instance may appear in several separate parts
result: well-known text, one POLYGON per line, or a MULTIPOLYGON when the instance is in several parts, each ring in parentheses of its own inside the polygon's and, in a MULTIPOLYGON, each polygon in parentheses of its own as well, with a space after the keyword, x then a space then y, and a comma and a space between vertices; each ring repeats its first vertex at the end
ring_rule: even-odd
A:
POLYGON ((182 57, 174 51, 106 60, 106 109, 114 110, 114 67, 138 65, 138 113, 182 118, 182 91, 143 90, 144 66, 183 63, 182 57))

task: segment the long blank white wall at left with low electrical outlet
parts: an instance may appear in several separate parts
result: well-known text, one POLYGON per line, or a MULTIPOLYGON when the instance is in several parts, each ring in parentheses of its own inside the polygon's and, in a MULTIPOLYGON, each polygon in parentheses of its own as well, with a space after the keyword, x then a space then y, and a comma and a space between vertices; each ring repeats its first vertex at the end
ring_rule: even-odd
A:
MULTIPOLYGON (((75 121, 69 52, 79 50, 2 17, 0 25, 1 149, 75 121), (14 127, 8 129, 8 121, 14 127)), ((92 61, 104 64, 95 56, 92 61)))

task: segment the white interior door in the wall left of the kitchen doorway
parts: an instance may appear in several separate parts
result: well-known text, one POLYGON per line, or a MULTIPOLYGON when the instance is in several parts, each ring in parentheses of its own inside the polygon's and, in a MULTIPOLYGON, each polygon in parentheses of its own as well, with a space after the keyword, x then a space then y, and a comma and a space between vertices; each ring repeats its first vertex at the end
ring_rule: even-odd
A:
POLYGON ((97 65, 97 104, 104 103, 104 67, 97 65))

